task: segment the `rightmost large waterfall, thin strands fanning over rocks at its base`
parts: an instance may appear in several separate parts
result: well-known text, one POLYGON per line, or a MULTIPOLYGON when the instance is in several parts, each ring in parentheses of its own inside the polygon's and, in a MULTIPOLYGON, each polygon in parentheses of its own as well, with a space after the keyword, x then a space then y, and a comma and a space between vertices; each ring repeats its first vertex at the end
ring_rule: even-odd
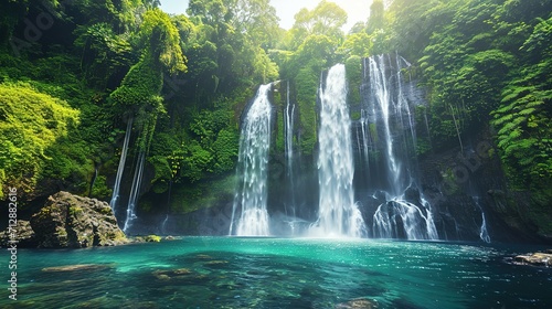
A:
MULTIPOLYGON (((383 238, 437 239, 432 206, 416 185, 414 115, 403 89, 401 70, 410 64, 399 55, 368 58, 369 102, 364 106, 378 127, 384 174, 372 174, 384 194, 373 215, 373 234, 383 238), (383 179, 383 183, 380 179, 383 179)), ((375 196, 375 193, 374 193, 375 196)))

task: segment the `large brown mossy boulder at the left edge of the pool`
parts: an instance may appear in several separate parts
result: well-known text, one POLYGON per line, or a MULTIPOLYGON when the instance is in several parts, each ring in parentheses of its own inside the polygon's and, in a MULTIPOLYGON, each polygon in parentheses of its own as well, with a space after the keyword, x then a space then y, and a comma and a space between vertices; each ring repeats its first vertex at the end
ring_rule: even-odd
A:
POLYGON ((114 246, 127 243, 112 207, 96 199, 67 192, 50 196, 44 207, 31 217, 38 247, 114 246))

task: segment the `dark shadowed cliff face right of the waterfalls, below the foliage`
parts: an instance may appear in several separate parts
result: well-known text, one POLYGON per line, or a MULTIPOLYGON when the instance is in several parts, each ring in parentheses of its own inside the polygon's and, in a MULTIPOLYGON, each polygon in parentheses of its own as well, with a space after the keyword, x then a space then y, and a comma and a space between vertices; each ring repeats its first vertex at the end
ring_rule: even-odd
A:
POLYGON ((488 130, 467 140, 464 151, 452 147, 421 157, 420 173, 444 239, 546 241, 513 202, 524 193, 508 190, 488 130))

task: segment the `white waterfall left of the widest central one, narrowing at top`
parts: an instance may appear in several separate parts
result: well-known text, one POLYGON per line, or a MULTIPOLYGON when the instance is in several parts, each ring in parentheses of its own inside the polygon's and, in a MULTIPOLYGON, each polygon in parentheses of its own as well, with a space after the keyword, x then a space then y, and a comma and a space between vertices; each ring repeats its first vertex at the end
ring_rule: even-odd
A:
POLYGON ((230 235, 268 236, 267 166, 270 148, 272 85, 262 85, 242 125, 237 178, 230 235), (234 215, 241 210, 234 230, 234 215))

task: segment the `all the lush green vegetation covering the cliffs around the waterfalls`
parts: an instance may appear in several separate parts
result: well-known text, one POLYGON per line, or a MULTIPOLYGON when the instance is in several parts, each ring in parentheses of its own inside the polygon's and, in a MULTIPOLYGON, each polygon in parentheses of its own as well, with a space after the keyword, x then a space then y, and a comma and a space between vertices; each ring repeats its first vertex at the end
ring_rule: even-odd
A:
POLYGON ((289 30, 268 0, 190 0, 187 15, 152 0, 4 1, 2 190, 108 199, 134 119, 129 153, 148 153, 145 190, 193 210, 209 182, 232 191, 240 114, 259 84, 290 81, 297 147, 311 156, 320 72, 346 63, 357 104, 361 57, 396 51, 427 89, 420 152, 492 131, 510 189, 532 193, 535 221, 550 219, 552 1, 388 2, 372 1, 370 19, 346 33, 347 13, 325 0, 289 30))

